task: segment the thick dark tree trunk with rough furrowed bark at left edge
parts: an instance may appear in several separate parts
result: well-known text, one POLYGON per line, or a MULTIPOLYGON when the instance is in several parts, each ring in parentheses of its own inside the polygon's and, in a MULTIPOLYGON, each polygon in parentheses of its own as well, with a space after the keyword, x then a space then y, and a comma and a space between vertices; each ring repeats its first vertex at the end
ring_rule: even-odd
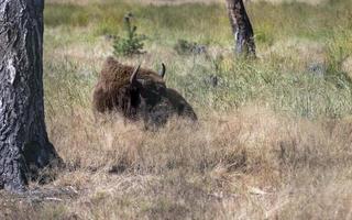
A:
POLYGON ((43 100, 44 0, 0 0, 0 188, 61 163, 47 139, 43 100))

